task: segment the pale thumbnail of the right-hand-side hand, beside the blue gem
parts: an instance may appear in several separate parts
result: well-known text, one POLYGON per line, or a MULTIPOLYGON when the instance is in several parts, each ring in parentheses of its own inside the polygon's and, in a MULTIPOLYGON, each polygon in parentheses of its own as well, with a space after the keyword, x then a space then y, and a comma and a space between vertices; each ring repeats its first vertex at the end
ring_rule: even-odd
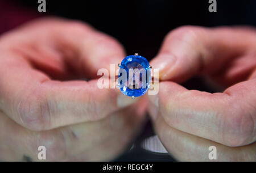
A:
POLYGON ((154 69, 159 69, 159 79, 164 79, 170 73, 172 66, 176 62, 175 56, 172 54, 159 54, 151 62, 154 69))

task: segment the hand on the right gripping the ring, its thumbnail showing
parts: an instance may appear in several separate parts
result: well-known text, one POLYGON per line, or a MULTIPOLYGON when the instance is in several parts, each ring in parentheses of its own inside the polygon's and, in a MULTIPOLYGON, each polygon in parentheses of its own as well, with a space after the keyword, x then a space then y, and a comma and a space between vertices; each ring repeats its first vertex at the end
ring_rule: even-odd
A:
POLYGON ((171 31, 151 61, 159 94, 148 111, 166 149, 179 161, 256 161, 256 32, 185 26, 171 31), (210 94, 178 83, 203 75, 225 88, 210 94))

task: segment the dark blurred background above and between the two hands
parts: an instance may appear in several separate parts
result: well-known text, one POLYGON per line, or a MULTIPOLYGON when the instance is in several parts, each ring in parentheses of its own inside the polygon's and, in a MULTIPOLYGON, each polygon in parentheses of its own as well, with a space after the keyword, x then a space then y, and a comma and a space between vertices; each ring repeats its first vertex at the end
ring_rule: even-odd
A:
MULTIPOLYGON (((38 12, 38 5, 37 0, 1 0, 0 33, 41 16, 62 16, 87 22, 98 30, 117 38, 125 47, 127 54, 136 52, 151 60, 158 53, 164 36, 180 26, 256 26, 255 0, 217 0, 217 12, 208 11, 210 5, 208 0, 46 0, 46 12, 41 13, 38 12)), ((214 92, 213 88, 205 85, 200 77, 189 80, 183 86, 214 92)), ((162 149, 157 139, 153 138, 153 142, 150 143, 152 138, 148 140, 148 137, 153 134, 151 124, 148 122, 142 134, 135 140, 133 149, 128 150, 117 161, 175 161, 168 154, 160 152, 162 149), (142 146, 151 146, 150 144, 159 145, 153 149, 155 152, 143 149, 142 146)))

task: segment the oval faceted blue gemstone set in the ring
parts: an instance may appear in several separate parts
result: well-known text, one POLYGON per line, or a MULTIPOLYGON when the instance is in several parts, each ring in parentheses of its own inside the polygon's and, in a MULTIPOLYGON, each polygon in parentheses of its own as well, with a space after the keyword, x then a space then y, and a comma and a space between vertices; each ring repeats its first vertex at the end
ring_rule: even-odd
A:
POLYGON ((121 62, 118 83, 123 94, 134 97, 144 95, 150 85, 150 78, 150 65, 146 58, 130 55, 121 62))

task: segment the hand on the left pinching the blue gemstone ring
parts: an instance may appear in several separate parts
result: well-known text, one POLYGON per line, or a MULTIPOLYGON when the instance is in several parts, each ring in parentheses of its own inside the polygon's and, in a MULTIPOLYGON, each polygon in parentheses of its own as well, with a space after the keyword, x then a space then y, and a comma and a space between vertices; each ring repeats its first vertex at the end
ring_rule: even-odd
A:
POLYGON ((112 37, 45 18, 2 35, 0 52, 1 161, 39 161, 41 145, 46 161, 109 161, 139 132, 145 100, 97 87, 125 57, 112 37))

